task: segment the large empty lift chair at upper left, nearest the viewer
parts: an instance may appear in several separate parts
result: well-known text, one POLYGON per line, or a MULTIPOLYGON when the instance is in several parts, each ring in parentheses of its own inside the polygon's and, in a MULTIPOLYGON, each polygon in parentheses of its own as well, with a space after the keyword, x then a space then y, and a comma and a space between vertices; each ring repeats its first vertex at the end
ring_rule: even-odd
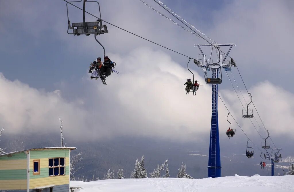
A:
POLYGON ((94 35, 100 35, 103 33, 108 33, 106 25, 102 25, 102 19, 101 19, 101 12, 100 12, 100 4, 97 1, 88 1, 90 2, 96 2, 98 3, 98 8, 99 8, 99 13, 100 13, 100 19, 97 19, 94 22, 86 22, 85 20, 85 7, 86 7, 86 2, 87 0, 81 0, 81 1, 71 1, 66 3, 66 11, 67 11, 67 19, 68 19, 68 29, 67 33, 68 34, 74 34, 74 35, 86 35, 89 36, 91 34, 94 35), (69 20, 69 11, 68 11, 68 4, 69 3, 76 3, 76 2, 81 2, 83 1, 83 22, 80 23, 72 23, 69 20), (69 30, 72 29, 73 32, 69 33, 69 30))

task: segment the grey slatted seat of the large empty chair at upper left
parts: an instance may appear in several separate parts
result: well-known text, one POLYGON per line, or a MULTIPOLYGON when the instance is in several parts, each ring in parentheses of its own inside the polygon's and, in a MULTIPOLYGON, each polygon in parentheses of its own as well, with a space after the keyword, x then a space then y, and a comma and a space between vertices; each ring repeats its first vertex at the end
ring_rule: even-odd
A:
POLYGON ((101 21, 85 22, 85 26, 83 22, 72 23, 71 25, 72 27, 70 27, 70 29, 73 29, 74 35, 100 35, 108 33, 106 25, 101 26, 101 21))

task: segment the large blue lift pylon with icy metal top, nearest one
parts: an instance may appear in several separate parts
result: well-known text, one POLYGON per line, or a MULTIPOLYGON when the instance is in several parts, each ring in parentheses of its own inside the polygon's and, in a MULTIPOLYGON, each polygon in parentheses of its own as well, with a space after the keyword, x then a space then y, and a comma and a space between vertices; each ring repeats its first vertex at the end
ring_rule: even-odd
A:
POLYGON ((222 82, 221 69, 225 71, 232 70, 232 65, 236 66, 232 58, 228 59, 228 54, 233 46, 236 44, 202 44, 195 45, 198 47, 201 54, 197 55, 194 63, 202 68, 205 73, 205 82, 212 84, 212 113, 211 113, 211 128, 210 128, 210 142, 209 142, 209 156, 208 156, 208 177, 221 176, 220 164, 220 142, 218 131, 218 84, 222 82), (229 50, 226 54, 220 54, 220 47, 228 46, 229 50), (210 57, 207 58, 202 51, 202 47, 211 47, 210 57), (216 50, 216 63, 213 63, 213 49, 216 50), (208 73, 212 72, 212 78, 208 78, 208 73))

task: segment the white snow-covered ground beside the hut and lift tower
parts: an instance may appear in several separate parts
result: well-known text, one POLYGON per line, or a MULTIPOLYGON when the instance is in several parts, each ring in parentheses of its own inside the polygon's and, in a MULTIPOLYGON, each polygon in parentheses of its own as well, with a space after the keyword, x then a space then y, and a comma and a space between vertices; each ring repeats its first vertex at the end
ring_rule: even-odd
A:
POLYGON ((146 178, 71 181, 75 192, 283 192, 294 191, 294 175, 231 176, 204 179, 146 178))

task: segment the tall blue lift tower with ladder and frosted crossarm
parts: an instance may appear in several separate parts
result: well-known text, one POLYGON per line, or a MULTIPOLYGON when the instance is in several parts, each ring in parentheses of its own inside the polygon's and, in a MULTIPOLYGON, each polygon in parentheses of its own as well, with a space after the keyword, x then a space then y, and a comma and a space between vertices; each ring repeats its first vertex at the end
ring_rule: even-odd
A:
MULTIPOLYGON (((198 67, 206 68, 208 70, 210 68, 209 66, 213 65, 212 58, 211 58, 213 53, 213 48, 219 48, 222 46, 230 46, 227 54, 225 54, 225 58, 224 59, 218 58, 219 59, 218 65, 220 65, 220 67, 225 67, 225 65, 227 64, 226 58, 230 50, 232 49, 232 47, 236 46, 236 44, 195 45, 195 47, 199 48, 201 55, 203 57, 201 60, 201 64, 200 65, 198 64, 198 67), (206 55, 204 55, 203 51, 201 50, 201 47, 211 47, 209 60, 207 60, 206 55)), ((221 70, 221 68, 219 69, 221 70)), ((217 76, 218 76, 219 69, 211 68, 212 79, 218 78, 217 76)), ((218 84, 217 83, 212 83, 212 113, 211 113, 211 130, 210 130, 210 142, 209 142, 209 157, 208 157, 207 168, 208 168, 208 177, 215 178, 215 177, 221 176, 220 145, 219 145, 219 132, 218 132, 218 84)))

